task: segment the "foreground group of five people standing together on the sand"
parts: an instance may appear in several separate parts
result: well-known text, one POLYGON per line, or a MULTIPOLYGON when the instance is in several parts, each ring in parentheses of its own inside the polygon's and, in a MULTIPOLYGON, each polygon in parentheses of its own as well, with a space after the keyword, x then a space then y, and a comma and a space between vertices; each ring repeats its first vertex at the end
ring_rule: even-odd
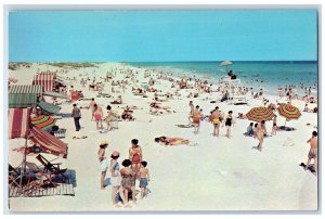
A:
POLYGON ((110 172, 110 185, 112 185, 112 203, 115 207, 131 207, 129 203, 129 196, 132 198, 132 204, 135 204, 135 181, 139 180, 139 186, 141 189, 141 199, 147 196, 147 184, 150 181, 150 172, 146 168, 147 163, 143 160, 142 149, 139 145, 138 139, 131 140, 131 146, 129 149, 129 158, 123 159, 121 166, 118 163, 119 152, 114 151, 110 155, 110 162, 107 163, 105 156, 105 150, 108 146, 108 142, 104 141, 100 144, 98 152, 98 158, 100 162, 101 170, 101 189, 104 190, 104 180, 106 171, 110 172), (131 195, 129 195, 131 194, 131 195), (119 198, 122 204, 119 205, 119 198))

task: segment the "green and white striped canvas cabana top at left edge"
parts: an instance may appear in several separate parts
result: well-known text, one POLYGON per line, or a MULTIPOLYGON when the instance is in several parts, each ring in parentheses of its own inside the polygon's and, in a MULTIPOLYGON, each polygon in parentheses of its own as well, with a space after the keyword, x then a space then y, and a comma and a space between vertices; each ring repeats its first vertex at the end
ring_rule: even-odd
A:
POLYGON ((12 85, 9 89, 9 108, 36 107, 41 93, 41 86, 12 85))

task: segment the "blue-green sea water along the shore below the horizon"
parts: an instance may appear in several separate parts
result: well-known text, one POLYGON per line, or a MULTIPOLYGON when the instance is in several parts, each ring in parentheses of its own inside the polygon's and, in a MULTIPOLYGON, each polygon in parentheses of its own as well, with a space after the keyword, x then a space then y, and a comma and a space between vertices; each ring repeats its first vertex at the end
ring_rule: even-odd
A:
MULTIPOLYGON (((145 67, 150 69, 172 73, 173 76, 195 74, 210 76, 212 82, 226 75, 226 67, 220 66, 221 62, 148 62, 128 63, 131 66, 145 67)), ((232 69, 242 85, 248 88, 260 88, 269 94, 276 94, 278 86, 299 86, 300 82, 307 87, 317 87, 317 62, 316 61, 282 61, 282 62, 233 62, 227 66, 232 69), (258 81, 257 81, 258 80, 258 81), (262 82, 261 82, 262 81, 262 82)), ((303 91, 298 89, 298 93, 303 91)))

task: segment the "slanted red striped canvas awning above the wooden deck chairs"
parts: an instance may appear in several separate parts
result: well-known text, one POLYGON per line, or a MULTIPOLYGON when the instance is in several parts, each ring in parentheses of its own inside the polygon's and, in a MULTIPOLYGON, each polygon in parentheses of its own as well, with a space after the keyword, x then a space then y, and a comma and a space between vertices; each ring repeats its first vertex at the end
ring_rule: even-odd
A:
POLYGON ((61 156, 64 158, 67 157, 67 143, 64 143, 60 139, 37 127, 32 127, 30 133, 31 141, 34 141, 39 147, 41 147, 46 152, 55 156, 61 156))

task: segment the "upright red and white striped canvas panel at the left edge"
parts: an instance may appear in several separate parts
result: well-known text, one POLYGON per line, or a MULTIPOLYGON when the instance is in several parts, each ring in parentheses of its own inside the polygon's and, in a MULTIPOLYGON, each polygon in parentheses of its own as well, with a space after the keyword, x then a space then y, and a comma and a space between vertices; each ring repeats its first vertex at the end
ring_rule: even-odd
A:
POLYGON ((30 108, 8 110, 9 139, 27 138, 30 124, 30 108))

